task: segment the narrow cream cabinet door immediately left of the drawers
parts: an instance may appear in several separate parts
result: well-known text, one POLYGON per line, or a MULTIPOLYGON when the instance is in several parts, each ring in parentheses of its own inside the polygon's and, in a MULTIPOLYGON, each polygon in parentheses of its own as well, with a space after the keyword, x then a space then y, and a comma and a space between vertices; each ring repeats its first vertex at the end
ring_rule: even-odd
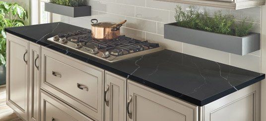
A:
POLYGON ((41 46, 30 42, 29 50, 29 121, 39 121, 41 46))

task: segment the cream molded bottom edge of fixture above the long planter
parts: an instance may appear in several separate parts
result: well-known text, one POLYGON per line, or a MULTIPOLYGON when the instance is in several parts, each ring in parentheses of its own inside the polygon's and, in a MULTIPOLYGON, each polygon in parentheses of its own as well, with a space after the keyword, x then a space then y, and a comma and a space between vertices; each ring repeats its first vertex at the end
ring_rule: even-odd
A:
POLYGON ((212 7, 230 8, 230 9, 244 9, 249 7, 265 5, 266 0, 159 0, 159 1, 197 4, 197 5, 212 6, 212 7))

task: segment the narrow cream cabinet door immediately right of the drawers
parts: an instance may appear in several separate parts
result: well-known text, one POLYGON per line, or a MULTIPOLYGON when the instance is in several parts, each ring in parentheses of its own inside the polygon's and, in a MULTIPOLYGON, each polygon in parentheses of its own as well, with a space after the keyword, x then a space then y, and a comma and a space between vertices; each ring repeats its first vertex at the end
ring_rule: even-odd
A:
POLYGON ((105 72, 105 121, 126 121, 127 79, 105 72))

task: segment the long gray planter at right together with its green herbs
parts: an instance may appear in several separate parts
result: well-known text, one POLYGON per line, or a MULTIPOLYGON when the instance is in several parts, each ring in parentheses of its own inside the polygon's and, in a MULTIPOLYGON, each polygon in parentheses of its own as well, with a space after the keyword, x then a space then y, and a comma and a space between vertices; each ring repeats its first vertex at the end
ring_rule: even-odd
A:
POLYGON ((176 8, 176 22, 164 25, 164 38, 245 55, 260 49, 260 34, 252 33, 253 21, 236 21, 231 14, 216 11, 210 16, 194 6, 176 8))

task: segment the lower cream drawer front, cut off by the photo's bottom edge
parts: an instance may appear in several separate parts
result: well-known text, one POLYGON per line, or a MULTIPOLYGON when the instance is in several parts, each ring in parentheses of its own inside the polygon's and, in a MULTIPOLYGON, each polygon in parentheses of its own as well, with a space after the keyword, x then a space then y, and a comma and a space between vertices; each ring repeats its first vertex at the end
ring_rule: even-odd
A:
POLYGON ((65 103, 41 91, 41 121, 93 121, 65 103))

